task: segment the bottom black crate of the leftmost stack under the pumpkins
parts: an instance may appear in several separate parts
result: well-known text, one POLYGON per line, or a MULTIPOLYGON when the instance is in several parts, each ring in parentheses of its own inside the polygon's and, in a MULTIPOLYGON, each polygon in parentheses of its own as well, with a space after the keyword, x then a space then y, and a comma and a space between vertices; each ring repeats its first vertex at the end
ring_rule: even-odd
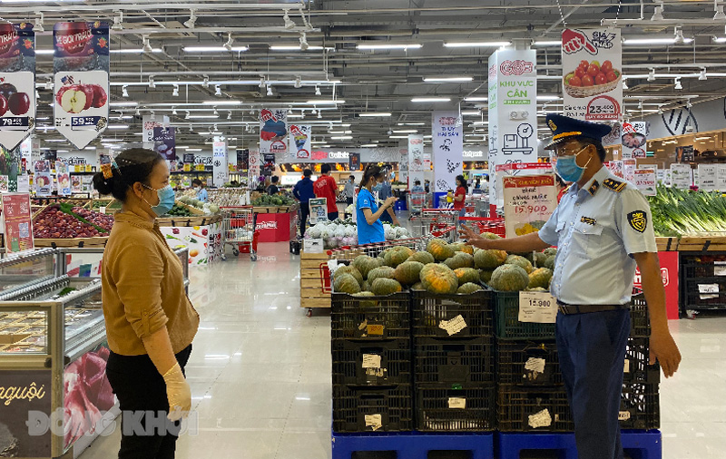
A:
POLYGON ((411 385, 333 386, 333 432, 407 432, 413 426, 411 385))

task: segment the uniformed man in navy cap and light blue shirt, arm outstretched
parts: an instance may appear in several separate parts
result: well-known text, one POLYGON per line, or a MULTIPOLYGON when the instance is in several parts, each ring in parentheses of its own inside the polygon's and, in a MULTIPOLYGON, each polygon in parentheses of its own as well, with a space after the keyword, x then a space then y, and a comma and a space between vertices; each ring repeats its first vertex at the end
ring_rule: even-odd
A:
POLYGON ((572 182, 538 233, 483 239, 461 230, 480 249, 529 252, 557 246, 551 292, 557 299, 560 367, 574 415, 580 459, 623 459, 618 413, 623 359, 631 329, 628 310, 636 265, 651 317, 651 363, 666 377, 681 354, 665 313, 665 291, 648 201, 603 166, 603 135, 610 127, 550 114, 554 169, 572 182))

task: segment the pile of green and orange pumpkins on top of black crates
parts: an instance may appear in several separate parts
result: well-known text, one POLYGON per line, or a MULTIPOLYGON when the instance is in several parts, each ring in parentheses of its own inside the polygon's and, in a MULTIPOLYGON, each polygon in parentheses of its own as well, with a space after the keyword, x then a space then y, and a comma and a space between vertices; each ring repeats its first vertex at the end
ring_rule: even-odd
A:
MULTIPOLYGON (((492 233, 482 236, 499 239, 492 233)), ((333 290, 358 297, 390 295, 408 288, 444 295, 469 294, 482 290, 482 284, 499 291, 544 290, 552 280, 555 254, 556 249, 550 248, 524 256, 510 255, 504 250, 433 239, 426 251, 398 246, 376 258, 358 256, 335 270, 333 290)))

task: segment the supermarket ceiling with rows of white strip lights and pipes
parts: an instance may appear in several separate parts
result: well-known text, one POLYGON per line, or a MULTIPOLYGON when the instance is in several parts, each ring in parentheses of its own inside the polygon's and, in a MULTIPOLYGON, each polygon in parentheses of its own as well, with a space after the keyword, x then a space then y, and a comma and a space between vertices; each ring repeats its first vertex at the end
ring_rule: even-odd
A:
POLYGON ((557 41, 564 24, 616 23, 626 40, 657 39, 623 44, 625 103, 633 118, 726 95, 726 15, 718 1, 4 0, 0 17, 44 26, 37 82, 45 140, 60 137, 44 132, 44 124, 52 125, 53 99, 44 82, 53 67, 53 24, 66 20, 114 24, 111 98, 118 129, 102 138, 113 143, 139 142, 141 116, 153 112, 181 128, 179 144, 203 146, 216 127, 237 140, 231 144, 247 146, 254 110, 276 106, 317 126, 318 144, 396 146, 409 131, 430 133, 430 112, 440 104, 412 99, 436 96, 462 103, 466 142, 481 144, 486 102, 476 98, 486 97, 486 63, 503 42, 525 40, 537 49, 539 109, 562 108, 557 41), (446 46, 451 43, 467 45, 446 46), (471 81, 427 82, 437 77, 471 81))

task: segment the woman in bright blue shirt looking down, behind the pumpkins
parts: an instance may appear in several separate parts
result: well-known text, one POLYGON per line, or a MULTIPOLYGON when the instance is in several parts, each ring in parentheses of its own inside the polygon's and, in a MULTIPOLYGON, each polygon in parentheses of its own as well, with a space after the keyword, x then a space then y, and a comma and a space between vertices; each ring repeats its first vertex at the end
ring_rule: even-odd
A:
POLYGON ((377 165, 368 165, 363 172, 363 179, 360 181, 358 201, 356 205, 356 221, 358 225, 358 244, 373 244, 374 242, 385 242, 386 236, 383 232, 383 223, 380 216, 383 215, 396 198, 391 196, 383 205, 378 208, 378 203, 373 197, 373 187, 384 180, 384 173, 377 165))

